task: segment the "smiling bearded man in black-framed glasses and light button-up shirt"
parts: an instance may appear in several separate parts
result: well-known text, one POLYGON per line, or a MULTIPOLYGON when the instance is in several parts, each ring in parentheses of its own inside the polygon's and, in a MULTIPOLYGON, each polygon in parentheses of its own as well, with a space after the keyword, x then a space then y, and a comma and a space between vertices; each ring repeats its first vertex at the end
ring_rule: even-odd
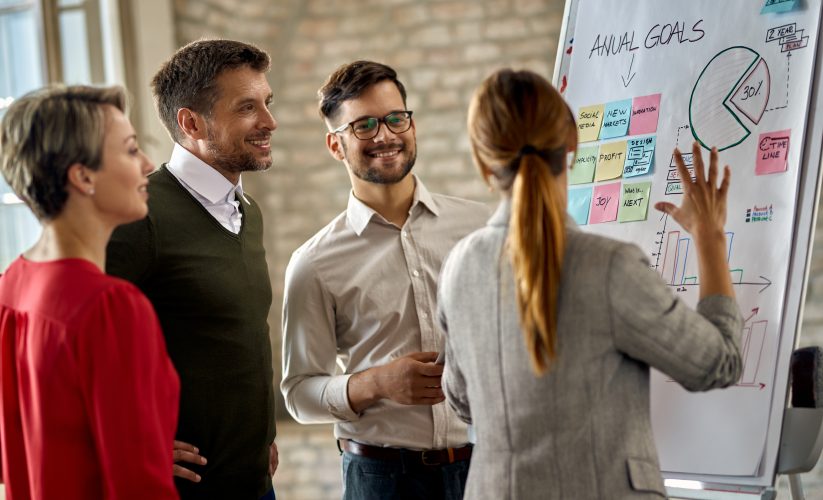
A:
POLYGON ((352 191, 286 270, 286 406, 299 422, 335 424, 344 498, 460 499, 471 445, 442 404, 437 277, 488 210, 411 175, 415 123, 392 68, 346 64, 318 94, 352 191))

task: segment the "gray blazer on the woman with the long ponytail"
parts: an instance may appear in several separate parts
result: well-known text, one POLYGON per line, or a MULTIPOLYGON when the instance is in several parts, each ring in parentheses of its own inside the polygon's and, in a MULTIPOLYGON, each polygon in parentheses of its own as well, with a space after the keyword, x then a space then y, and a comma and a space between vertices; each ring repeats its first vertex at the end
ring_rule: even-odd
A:
POLYGON ((678 300, 634 245, 569 221, 558 357, 531 370, 503 244, 510 207, 463 239, 440 276, 443 387, 474 425, 466 498, 662 498, 649 416, 649 366, 692 391, 741 373, 743 320, 713 296, 678 300))

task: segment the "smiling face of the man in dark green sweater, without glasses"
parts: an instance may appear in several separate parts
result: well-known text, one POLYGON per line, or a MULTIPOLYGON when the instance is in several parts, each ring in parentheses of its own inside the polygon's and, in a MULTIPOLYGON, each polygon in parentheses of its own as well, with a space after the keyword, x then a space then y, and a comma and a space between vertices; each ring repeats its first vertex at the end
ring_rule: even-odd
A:
POLYGON ((218 99, 205 117, 203 160, 227 177, 272 165, 271 134, 277 128, 269 106, 266 75, 248 66, 217 77, 218 99))

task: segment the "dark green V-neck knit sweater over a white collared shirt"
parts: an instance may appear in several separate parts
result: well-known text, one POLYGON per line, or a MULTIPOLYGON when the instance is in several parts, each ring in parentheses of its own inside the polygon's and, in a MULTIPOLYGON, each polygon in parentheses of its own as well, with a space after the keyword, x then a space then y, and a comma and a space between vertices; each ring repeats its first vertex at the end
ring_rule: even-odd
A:
POLYGON ((260 208, 249 201, 235 235, 164 165, 149 177, 148 217, 118 228, 108 247, 106 270, 139 286, 163 326, 181 382, 176 439, 208 459, 182 464, 202 476, 176 479, 183 499, 257 500, 271 488, 272 292, 260 208))

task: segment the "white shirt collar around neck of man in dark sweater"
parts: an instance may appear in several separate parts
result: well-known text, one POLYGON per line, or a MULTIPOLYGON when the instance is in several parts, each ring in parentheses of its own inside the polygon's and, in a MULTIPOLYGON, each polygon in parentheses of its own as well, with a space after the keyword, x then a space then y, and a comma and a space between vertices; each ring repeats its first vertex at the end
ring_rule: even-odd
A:
POLYGON ((243 194, 242 179, 235 186, 211 165, 196 157, 180 144, 174 145, 171 159, 169 159, 166 168, 211 203, 230 200, 232 194, 237 199, 242 199, 246 203, 249 202, 243 194))

